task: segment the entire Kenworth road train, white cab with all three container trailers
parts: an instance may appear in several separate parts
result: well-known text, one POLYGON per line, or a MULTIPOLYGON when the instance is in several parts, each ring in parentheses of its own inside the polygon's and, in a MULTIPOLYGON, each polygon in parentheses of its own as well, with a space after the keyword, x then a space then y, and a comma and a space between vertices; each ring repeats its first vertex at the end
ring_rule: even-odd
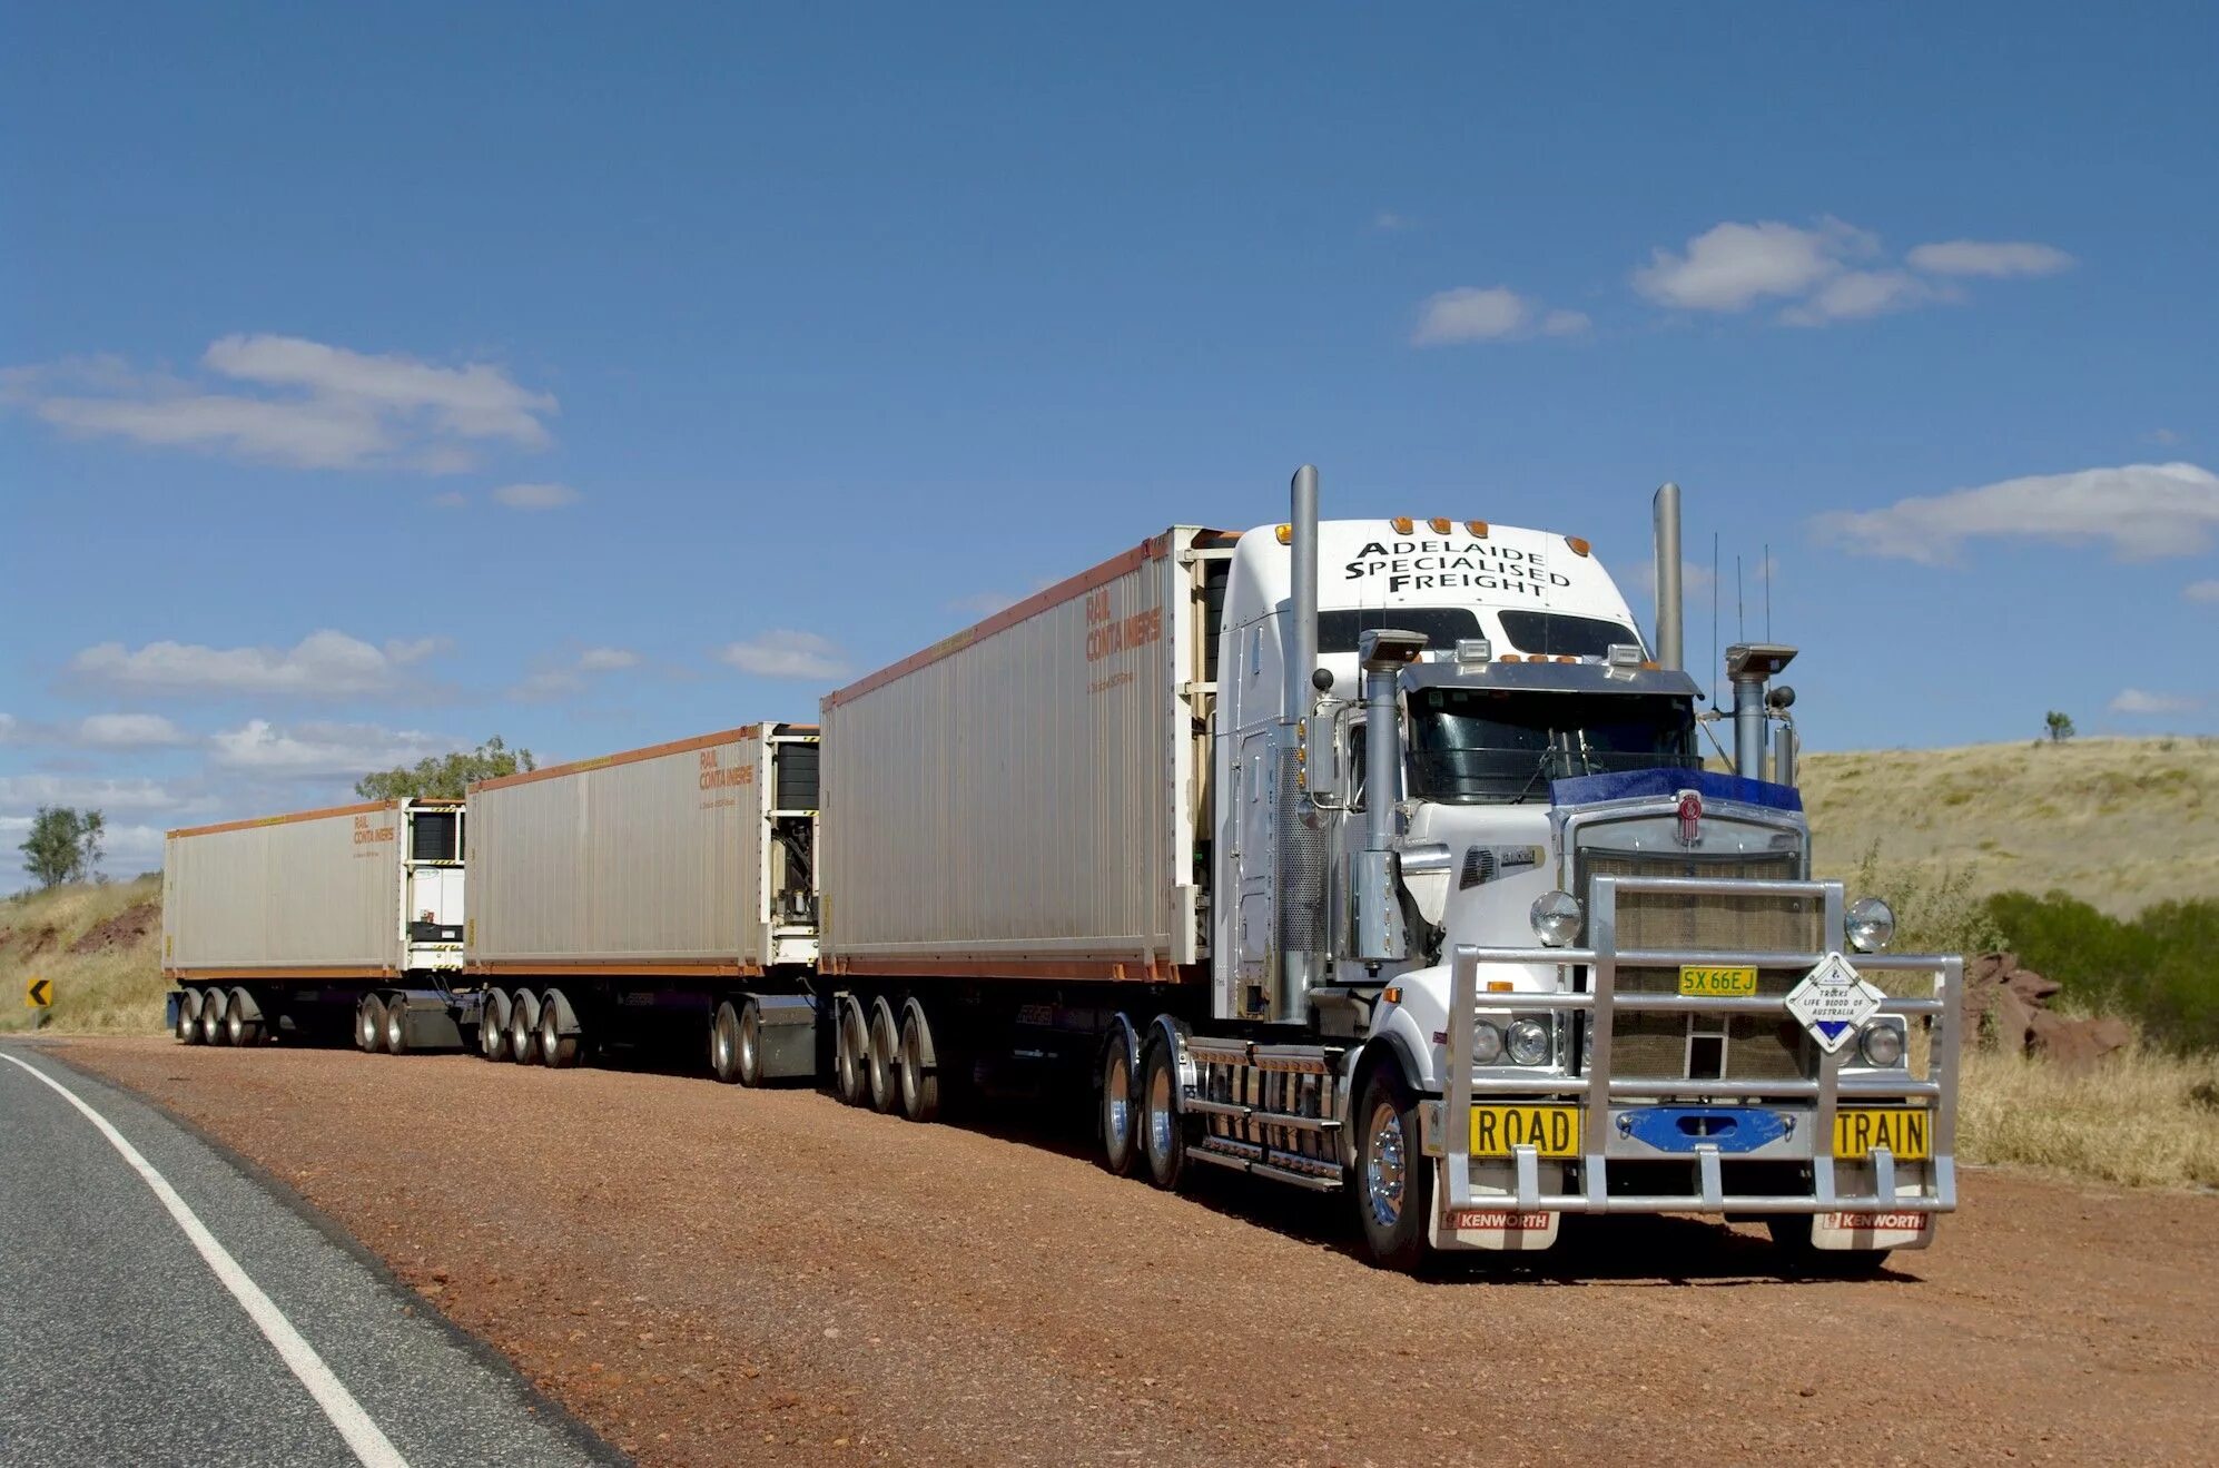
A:
POLYGON ((178 1037, 679 1035, 919 1122, 1061 1064, 1112 1173, 1347 1193, 1385 1266, 1709 1213, 1871 1268, 1955 1208, 1962 959, 1811 877, 1795 648, 1700 708, 1678 495, 1653 640, 1578 535, 1320 524, 1303 469, 1287 524, 1172 526, 817 728, 178 831, 178 1037))

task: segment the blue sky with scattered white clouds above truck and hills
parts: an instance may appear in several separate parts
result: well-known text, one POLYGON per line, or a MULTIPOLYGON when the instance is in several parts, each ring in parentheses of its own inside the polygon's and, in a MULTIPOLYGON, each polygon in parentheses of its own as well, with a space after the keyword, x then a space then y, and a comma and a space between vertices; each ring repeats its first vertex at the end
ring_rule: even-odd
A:
POLYGON ((7 846, 810 717, 1305 460, 1635 604, 1680 480, 1813 748, 2219 733, 2212 7, 801 9, 11 22, 7 846))

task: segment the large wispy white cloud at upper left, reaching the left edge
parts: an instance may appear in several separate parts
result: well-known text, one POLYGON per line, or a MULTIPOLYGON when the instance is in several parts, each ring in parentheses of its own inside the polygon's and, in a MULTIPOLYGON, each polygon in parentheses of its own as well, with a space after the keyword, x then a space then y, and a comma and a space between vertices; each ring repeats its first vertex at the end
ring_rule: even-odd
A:
POLYGON ((140 373, 120 358, 20 366, 0 375, 0 402, 64 433, 293 469, 417 473, 468 469, 484 442, 544 449, 544 420, 557 411, 550 393, 490 362, 435 366, 286 335, 220 338, 200 366, 200 380, 140 373))

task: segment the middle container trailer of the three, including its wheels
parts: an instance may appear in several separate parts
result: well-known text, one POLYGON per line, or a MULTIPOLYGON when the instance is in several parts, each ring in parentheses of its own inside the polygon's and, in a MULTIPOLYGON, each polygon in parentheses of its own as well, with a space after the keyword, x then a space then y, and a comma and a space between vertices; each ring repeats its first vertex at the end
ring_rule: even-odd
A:
POLYGON ((814 1073, 814 728, 728 728, 468 800, 482 1055, 573 1066, 681 1033, 719 1079, 814 1073))

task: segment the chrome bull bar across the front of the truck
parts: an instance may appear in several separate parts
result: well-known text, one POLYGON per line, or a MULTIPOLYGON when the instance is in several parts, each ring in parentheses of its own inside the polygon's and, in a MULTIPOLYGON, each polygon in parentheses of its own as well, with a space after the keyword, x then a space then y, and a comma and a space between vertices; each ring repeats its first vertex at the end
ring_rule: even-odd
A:
MULTIPOLYGON (((1844 951, 1844 904, 1840 882, 1757 882, 1713 877, 1602 877, 1593 879, 1587 948, 1480 948, 1460 944, 1449 962, 1449 1039, 1447 1088, 1442 1097, 1440 1150, 1447 1175, 1449 1208, 1516 1208, 1518 1213, 1953 1213, 1957 1208, 1957 1053, 1962 1046, 1964 957, 1862 953, 1851 962, 1862 973, 1933 973, 1931 999, 1882 1002, 1882 1015, 1933 1017, 1928 1079, 1895 1079, 1888 1075, 1842 1077, 1842 1055, 1820 1053, 1817 1079, 1742 1082, 1742 1079, 1675 1079, 1618 1077, 1611 1070, 1611 1030, 1618 1013, 1762 1013, 1786 1015, 1782 997, 1722 995, 1653 995, 1618 993, 1618 968, 1655 968, 1678 964, 1753 964, 1760 968, 1811 968, 1824 953, 1718 953, 1678 948, 1620 951, 1618 895, 1664 893, 1684 897, 1808 897, 1824 908, 1824 942, 1844 951), (1480 964, 1549 964, 1582 966, 1589 973, 1584 993, 1489 993, 1487 1008, 1511 1013, 1567 1015, 1587 1013, 1587 1066, 1582 1075, 1473 1075, 1471 1035, 1480 1008, 1480 964), (1471 1102, 1504 1099, 1578 1099, 1580 1193, 1540 1190, 1540 1153, 1533 1146, 1511 1148, 1511 1195, 1476 1195, 1471 1190, 1471 1102), (1698 1190, 1691 1195, 1620 1195, 1609 1193, 1607 1124, 1613 1099, 1684 1097, 1722 1104, 1742 1099, 1811 1099, 1811 1193, 1742 1195, 1724 1190, 1720 1148, 1695 1146, 1698 1190), (1933 1146, 1926 1159, 1928 1186, 1897 1193, 1895 1157, 1886 1146, 1868 1153, 1871 1193, 1842 1193, 1835 1184, 1833 1122, 1842 1099, 1915 1102, 1933 1110, 1933 1146)), ((1906 1057, 1908 1059, 1908 1057, 1906 1057)))

